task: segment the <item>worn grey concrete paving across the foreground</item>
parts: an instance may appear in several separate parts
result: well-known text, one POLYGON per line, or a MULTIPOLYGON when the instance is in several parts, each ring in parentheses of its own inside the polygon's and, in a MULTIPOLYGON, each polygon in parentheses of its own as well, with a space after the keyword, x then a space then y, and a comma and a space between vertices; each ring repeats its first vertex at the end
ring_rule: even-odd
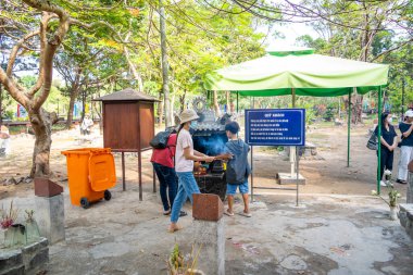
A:
MULTIPOLYGON (((175 242, 190 252, 190 204, 184 208, 189 215, 178 222, 184 229, 167 234, 170 217, 162 215, 158 196, 148 190, 139 202, 137 187, 121 189, 112 192, 113 201, 87 211, 72 207, 64 193, 66 241, 50 247, 49 274, 166 274, 175 242)), ((261 207, 251 208, 251 218, 223 218, 227 275, 297 275, 300 271, 280 264, 291 254, 306 264, 304 274, 411 275, 413 241, 399 222, 387 220, 388 207, 379 199, 303 196, 305 208, 295 208, 293 196, 255 199, 261 207)), ((33 209, 34 198, 14 202, 33 209)), ((235 211, 241 210, 236 203, 235 211)), ((208 261, 202 252, 200 261, 208 261)))

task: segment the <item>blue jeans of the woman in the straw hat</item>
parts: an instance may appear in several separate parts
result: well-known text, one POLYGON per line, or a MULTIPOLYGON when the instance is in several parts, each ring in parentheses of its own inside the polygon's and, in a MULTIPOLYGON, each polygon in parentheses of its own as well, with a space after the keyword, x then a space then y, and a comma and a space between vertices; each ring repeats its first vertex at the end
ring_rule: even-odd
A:
POLYGON ((189 197, 192 203, 192 193, 201 193, 192 172, 176 172, 179 178, 178 193, 175 197, 174 205, 171 213, 171 222, 176 223, 179 218, 179 212, 189 197))

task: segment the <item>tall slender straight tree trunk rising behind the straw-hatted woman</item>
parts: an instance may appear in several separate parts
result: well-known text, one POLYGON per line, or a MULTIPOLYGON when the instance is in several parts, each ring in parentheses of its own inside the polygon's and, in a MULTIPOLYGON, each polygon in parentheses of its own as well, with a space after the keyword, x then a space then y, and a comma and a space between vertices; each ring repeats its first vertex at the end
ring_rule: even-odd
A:
POLYGON ((171 117, 171 99, 168 86, 168 63, 166 53, 166 24, 165 24, 165 9, 162 0, 159 1, 160 7, 160 25, 161 25, 161 58, 162 58, 162 91, 164 97, 165 107, 165 124, 166 127, 172 126, 173 120, 171 117))

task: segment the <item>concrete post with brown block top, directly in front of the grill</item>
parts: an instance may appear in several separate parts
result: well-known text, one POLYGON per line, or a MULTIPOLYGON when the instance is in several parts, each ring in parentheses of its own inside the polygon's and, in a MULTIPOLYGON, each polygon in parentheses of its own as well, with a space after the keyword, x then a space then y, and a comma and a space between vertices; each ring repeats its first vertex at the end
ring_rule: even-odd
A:
POLYGON ((225 275, 224 204, 217 195, 195 193, 192 203, 193 245, 200 250, 198 268, 225 275))

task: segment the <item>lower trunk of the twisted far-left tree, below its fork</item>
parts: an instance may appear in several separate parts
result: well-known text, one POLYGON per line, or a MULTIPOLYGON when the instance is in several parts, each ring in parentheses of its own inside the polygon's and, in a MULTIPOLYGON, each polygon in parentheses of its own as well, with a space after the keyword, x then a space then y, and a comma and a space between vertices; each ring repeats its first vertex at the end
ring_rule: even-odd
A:
POLYGON ((49 176, 49 157, 52 142, 51 128, 58 122, 58 115, 54 112, 49 113, 42 108, 38 112, 29 110, 28 114, 36 136, 30 177, 49 176))

